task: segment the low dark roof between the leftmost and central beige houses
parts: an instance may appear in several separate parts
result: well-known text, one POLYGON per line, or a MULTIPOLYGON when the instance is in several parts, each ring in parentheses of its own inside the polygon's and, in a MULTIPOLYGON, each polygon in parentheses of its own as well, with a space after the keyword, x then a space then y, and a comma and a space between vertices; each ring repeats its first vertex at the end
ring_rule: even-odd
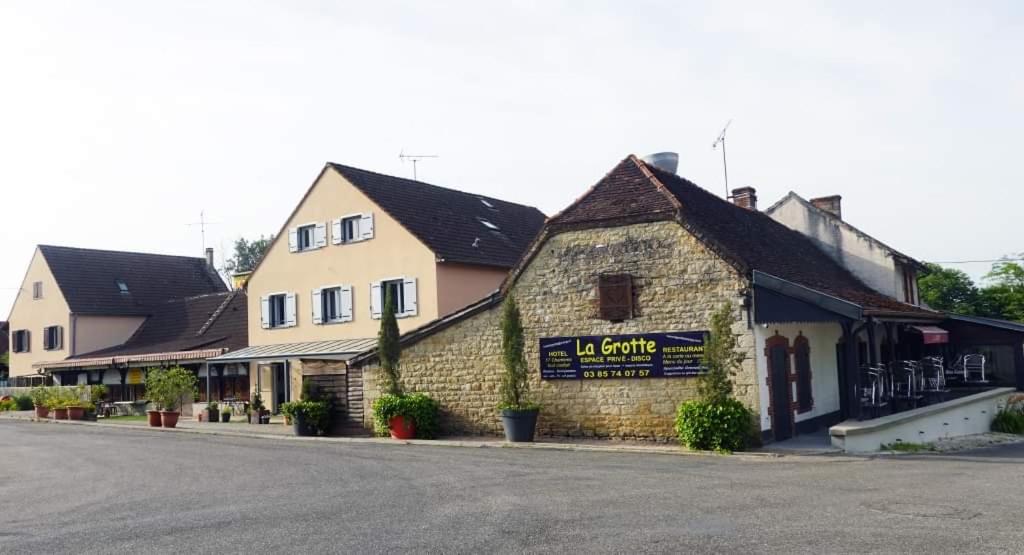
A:
POLYGON ((124 344, 70 357, 123 356, 249 345, 248 308, 242 290, 165 301, 124 344))

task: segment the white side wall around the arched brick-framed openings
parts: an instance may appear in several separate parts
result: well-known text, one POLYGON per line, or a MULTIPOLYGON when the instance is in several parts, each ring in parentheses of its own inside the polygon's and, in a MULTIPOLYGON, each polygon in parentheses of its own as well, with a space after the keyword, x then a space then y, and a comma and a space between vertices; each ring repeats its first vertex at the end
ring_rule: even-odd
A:
MULTIPOLYGON (((761 429, 771 429, 771 417, 768 416, 770 400, 765 340, 774 336, 776 331, 778 335, 788 338, 791 347, 797 336, 802 333, 807 338, 811 349, 811 394, 814 396, 814 407, 806 413, 798 413, 796 421, 803 422, 839 411, 840 388, 836 343, 843 336, 843 330, 839 324, 778 324, 769 325, 767 328, 756 325, 754 327, 754 352, 757 356, 758 386, 760 387, 761 429)), ((796 372, 796 361, 791 355, 790 369, 792 372, 796 372)), ((796 399, 797 384, 793 383, 791 387, 793 387, 793 398, 796 399)))

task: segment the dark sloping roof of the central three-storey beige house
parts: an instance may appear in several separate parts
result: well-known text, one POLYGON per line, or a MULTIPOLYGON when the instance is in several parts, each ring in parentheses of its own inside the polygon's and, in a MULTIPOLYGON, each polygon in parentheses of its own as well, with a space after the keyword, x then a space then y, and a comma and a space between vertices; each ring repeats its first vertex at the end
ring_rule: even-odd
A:
POLYGON ((544 225, 544 213, 530 206, 340 164, 329 166, 445 262, 510 268, 544 225))

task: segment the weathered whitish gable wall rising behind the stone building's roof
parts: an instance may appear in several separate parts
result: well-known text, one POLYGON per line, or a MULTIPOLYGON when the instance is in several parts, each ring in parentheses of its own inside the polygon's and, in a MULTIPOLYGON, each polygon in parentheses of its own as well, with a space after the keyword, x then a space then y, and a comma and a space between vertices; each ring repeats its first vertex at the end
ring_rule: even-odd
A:
MULTIPOLYGON (((783 225, 809 237, 834 260, 879 293, 903 300, 903 268, 890 251, 871 238, 793 197, 767 213, 783 225)), ((916 298, 916 297, 914 297, 916 298)))

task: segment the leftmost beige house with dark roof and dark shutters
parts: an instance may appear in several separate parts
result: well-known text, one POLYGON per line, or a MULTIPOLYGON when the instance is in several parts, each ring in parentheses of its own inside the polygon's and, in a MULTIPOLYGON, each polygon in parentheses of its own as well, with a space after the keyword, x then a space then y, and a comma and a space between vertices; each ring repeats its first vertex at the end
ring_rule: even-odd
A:
POLYGON ((225 291, 200 257, 40 245, 8 317, 10 381, 29 383, 49 364, 126 343, 169 299, 225 291))

